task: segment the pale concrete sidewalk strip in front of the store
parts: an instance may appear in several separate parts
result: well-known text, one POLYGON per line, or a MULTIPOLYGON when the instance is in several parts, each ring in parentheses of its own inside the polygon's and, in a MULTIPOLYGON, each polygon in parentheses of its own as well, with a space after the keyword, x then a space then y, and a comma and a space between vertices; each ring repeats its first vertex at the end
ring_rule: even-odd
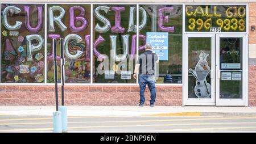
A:
MULTIPOLYGON (((67 106, 68 116, 256 116, 256 107, 67 106)), ((0 106, 1 115, 52 116, 55 106, 0 106)))

